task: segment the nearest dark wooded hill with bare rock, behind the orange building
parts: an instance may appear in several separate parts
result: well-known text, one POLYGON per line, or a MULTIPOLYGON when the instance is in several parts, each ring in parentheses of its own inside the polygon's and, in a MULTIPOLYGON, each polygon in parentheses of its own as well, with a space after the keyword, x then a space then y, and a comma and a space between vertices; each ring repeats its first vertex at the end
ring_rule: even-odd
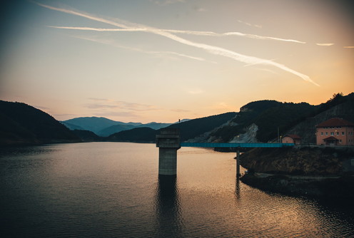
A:
POLYGON ((259 100, 248 103, 240 109, 238 116, 231 123, 225 125, 209 135, 213 140, 229 142, 240 138, 245 140, 268 142, 276 140, 279 135, 286 133, 298 134, 304 138, 304 143, 313 143, 315 139, 315 125, 329 118, 340 117, 345 120, 354 120, 354 93, 343 95, 337 93, 327 102, 320 105, 308 103, 281 103, 275 100, 259 100), (308 123, 310 118, 314 122, 308 123), (293 130, 297 125, 301 128, 293 130), (246 136, 252 128, 256 128, 256 137, 246 136), (305 133, 310 135, 305 136, 305 133), (310 140, 310 138, 312 138, 310 140))

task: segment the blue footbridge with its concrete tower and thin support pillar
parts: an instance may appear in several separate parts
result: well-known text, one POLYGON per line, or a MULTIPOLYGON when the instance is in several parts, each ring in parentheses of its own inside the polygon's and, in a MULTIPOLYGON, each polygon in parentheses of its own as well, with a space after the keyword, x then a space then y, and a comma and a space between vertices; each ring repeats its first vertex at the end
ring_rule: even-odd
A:
POLYGON ((243 148, 283 148, 293 143, 181 143, 178 128, 164 128, 156 135, 158 148, 158 175, 177 175, 177 150, 181 147, 234 148, 236 152, 236 177, 240 177, 240 150, 243 148))

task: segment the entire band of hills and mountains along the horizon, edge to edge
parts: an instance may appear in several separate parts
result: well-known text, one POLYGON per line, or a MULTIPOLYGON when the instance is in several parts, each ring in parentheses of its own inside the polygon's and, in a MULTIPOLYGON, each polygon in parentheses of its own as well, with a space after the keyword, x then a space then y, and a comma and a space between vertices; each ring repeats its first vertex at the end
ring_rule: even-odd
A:
POLYGON ((314 143, 315 125, 340 117, 354 122, 354 93, 337 93, 326 103, 280 103, 259 100, 238 113, 223 113, 180 123, 122 123, 107 118, 74 118, 59 123, 25 103, 0 100, 0 145, 126 141, 153 143, 161 128, 179 128, 181 141, 268 142, 278 135, 297 134, 314 143), (69 130, 69 128, 71 130, 69 130))

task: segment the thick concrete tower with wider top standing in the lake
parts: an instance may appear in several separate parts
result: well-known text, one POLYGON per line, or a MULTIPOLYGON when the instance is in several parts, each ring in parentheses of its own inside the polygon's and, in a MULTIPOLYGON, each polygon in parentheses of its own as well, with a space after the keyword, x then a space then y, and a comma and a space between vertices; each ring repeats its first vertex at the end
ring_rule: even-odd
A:
POLYGON ((163 128, 156 135, 158 175, 177 175, 177 150, 181 148, 179 129, 163 128))

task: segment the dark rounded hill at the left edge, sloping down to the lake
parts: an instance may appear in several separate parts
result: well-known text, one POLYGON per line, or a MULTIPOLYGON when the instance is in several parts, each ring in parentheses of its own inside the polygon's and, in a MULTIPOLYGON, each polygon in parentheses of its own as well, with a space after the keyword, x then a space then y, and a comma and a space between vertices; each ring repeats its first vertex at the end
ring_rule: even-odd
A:
POLYGON ((0 100, 0 145, 81 141, 51 115, 25 103, 0 100))

